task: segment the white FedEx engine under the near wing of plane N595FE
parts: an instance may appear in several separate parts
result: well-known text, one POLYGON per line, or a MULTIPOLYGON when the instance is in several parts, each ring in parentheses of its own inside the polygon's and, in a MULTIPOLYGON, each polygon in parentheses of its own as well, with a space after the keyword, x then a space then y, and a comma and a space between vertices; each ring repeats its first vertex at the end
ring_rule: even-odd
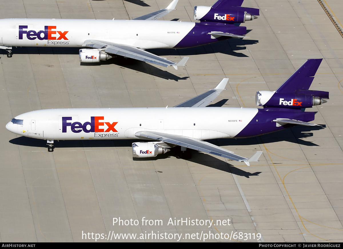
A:
MULTIPOLYGON (((161 142, 135 142, 132 143, 132 157, 156 157, 170 151, 167 147, 161 145, 161 142)), ((164 144, 165 145, 165 144, 164 144)))

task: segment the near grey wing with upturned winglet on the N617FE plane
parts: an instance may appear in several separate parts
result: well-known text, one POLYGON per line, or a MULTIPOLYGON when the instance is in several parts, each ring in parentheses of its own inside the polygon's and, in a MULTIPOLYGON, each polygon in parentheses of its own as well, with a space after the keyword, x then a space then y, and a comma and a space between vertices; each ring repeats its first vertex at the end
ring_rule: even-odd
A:
POLYGON ((145 61, 160 66, 173 66, 176 70, 178 66, 185 66, 189 58, 184 57, 176 63, 158 55, 149 53, 140 48, 108 41, 86 40, 82 46, 88 48, 104 49, 103 51, 109 54, 117 54, 123 57, 145 61))

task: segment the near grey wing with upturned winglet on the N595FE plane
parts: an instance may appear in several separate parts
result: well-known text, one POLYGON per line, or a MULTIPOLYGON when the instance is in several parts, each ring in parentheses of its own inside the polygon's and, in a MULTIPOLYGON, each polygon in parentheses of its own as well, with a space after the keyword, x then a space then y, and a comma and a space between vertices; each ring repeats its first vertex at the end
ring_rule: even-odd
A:
POLYGON ((239 155, 235 155, 232 151, 210 144, 209 142, 197 140, 194 138, 184 137, 184 136, 160 133, 160 132, 147 132, 147 131, 137 132, 135 136, 145 138, 145 139, 148 138, 152 140, 163 141, 167 144, 179 145, 179 146, 190 148, 193 150, 198 150, 198 151, 206 152, 209 154, 218 155, 232 161, 245 162, 248 166, 250 165, 249 162, 257 162, 260 155, 262 154, 262 151, 258 151, 251 158, 245 158, 239 155))

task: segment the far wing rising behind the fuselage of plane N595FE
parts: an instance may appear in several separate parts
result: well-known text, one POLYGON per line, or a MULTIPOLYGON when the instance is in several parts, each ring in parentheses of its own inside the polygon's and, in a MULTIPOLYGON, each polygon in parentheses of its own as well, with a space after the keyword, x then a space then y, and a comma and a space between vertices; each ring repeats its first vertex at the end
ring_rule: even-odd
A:
POLYGON ((204 92, 190 100, 187 100, 181 104, 175 105, 175 107, 205 107, 211 103, 225 88, 228 78, 222 79, 222 81, 212 90, 204 92))

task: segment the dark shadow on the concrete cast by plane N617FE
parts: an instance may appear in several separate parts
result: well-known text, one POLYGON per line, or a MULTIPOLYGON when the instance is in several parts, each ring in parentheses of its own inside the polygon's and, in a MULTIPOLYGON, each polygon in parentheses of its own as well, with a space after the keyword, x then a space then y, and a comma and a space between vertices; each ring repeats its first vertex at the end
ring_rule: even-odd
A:
MULTIPOLYGON (((247 31, 248 32, 248 31, 247 31)), ((189 55, 200 55, 200 54, 213 54, 213 53, 223 53, 227 55, 232 55, 235 57, 248 57, 244 53, 238 53, 235 51, 238 50, 245 50, 246 45, 252 45, 258 43, 257 40, 244 40, 244 39, 229 39, 223 40, 216 43, 194 47, 194 48, 185 48, 185 49, 150 49, 151 53, 154 53, 159 56, 166 56, 166 55, 176 55, 176 56, 189 56, 189 55)), ((51 48, 51 47, 16 47, 13 49, 13 56, 16 54, 79 54, 80 48, 51 48)), ((2 51, 4 53, 4 50, 2 51)), ((10 59, 10 58, 8 58, 10 59)), ((187 63, 192 63, 191 61, 187 63)), ((152 76, 156 76, 163 79, 170 79, 170 80, 185 80, 189 77, 179 77, 177 75, 177 71, 173 71, 173 73, 161 70, 155 67, 152 64, 138 61, 130 58, 124 58, 121 56, 114 57, 109 60, 101 61, 98 63, 80 63, 80 65, 87 65, 87 66, 99 66, 99 65, 118 65, 122 67, 126 67, 128 69, 142 72, 145 74, 150 74, 152 76)))

